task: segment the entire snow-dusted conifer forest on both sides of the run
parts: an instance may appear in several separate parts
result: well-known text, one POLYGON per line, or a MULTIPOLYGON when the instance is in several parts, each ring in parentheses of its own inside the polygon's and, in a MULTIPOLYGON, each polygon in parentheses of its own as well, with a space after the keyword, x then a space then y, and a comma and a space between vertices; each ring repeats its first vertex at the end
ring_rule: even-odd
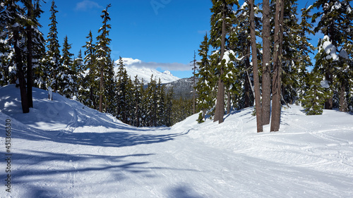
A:
POLYGON ((289 104, 303 106, 308 116, 353 112, 351 0, 212 0, 210 31, 199 41, 199 60, 193 58, 193 99, 174 97, 154 76, 143 85, 126 73, 122 58, 114 72, 110 4, 97 16, 98 36, 87 32, 84 51, 73 54, 69 37, 59 43, 55 1, 48 35, 39 23, 44 1, 0 2, 0 86, 19 86, 23 113, 33 107, 32 87, 136 127, 171 126, 193 113, 199 123, 222 123, 225 114, 254 106, 257 131, 268 124, 278 131, 289 104), (317 46, 313 35, 323 35, 317 46))

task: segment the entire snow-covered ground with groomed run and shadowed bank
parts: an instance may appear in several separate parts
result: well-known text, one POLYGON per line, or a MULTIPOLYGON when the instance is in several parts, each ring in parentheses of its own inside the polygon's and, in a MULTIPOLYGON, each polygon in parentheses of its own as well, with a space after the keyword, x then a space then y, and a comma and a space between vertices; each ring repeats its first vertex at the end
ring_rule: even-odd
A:
POLYGON ((256 132, 253 108, 222 124, 191 116, 133 128, 78 101, 0 88, 0 197, 353 197, 353 116, 282 109, 280 132, 256 132), (6 192, 11 119, 11 192, 6 192))

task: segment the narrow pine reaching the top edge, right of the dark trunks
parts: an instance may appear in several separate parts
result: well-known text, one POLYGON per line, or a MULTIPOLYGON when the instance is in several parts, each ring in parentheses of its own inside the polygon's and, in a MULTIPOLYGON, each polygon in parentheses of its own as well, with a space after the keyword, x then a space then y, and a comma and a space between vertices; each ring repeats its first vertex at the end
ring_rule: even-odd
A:
POLYGON ((52 87, 54 92, 59 88, 58 78, 59 78, 59 65, 60 65, 60 45, 58 40, 58 30, 56 22, 56 10, 55 1, 52 1, 52 6, 50 8, 50 13, 52 14, 49 18, 51 23, 49 24, 49 33, 47 35, 47 58, 45 60, 45 73, 47 78, 47 87, 52 87))

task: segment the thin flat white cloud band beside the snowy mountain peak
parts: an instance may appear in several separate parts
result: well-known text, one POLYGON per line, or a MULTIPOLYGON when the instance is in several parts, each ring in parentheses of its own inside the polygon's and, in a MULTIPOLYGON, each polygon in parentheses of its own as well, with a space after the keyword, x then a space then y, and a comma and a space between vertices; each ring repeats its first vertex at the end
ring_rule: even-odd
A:
MULTIPOLYGON (((156 63, 156 62, 144 62, 133 58, 123 58, 125 66, 136 66, 138 68, 160 68, 162 70, 178 70, 186 71, 191 70, 191 66, 183 63, 156 63)), ((119 61, 116 61, 119 63, 119 61)))

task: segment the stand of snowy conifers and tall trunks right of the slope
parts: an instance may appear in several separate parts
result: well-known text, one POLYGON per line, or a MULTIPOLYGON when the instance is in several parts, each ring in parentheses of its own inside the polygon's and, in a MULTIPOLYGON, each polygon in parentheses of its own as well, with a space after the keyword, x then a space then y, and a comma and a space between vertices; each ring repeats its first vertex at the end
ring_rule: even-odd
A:
POLYGON ((279 130, 284 104, 301 104, 307 115, 353 111, 350 0, 316 0, 300 12, 297 0, 212 2, 210 35, 198 50, 199 122, 222 123, 225 111, 254 103, 258 132, 269 123, 279 130), (320 32, 313 47, 310 37, 320 32))

